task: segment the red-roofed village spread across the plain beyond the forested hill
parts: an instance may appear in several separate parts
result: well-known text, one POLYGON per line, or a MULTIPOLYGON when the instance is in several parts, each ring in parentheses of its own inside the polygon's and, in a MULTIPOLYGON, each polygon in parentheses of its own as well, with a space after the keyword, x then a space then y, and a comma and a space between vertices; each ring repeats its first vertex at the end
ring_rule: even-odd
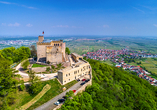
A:
POLYGON ((87 52, 87 54, 83 54, 83 56, 101 61, 110 59, 110 61, 114 63, 115 67, 136 72, 138 77, 147 80, 151 85, 157 86, 157 80, 148 76, 151 73, 147 72, 140 66, 129 65, 124 61, 125 58, 157 58, 157 54, 133 51, 125 48, 121 50, 99 49, 96 52, 87 52))

